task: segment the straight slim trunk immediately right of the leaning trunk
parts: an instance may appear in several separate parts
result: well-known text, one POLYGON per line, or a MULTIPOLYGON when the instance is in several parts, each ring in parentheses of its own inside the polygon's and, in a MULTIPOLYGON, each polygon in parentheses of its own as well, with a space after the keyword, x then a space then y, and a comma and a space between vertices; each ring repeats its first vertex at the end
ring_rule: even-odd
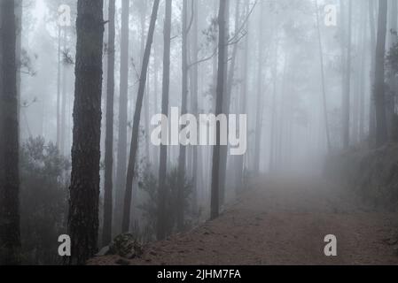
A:
MULTIPOLYGON (((164 22, 164 49, 163 49, 163 82, 161 94, 161 113, 168 117, 168 93, 170 88, 170 41, 171 41, 171 13, 172 0, 166 0, 165 22, 164 22)), ((162 129, 162 141, 168 138, 167 129, 162 129), (165 134, 165 136, 163 136, 165 134)), ((166 175, 168 172, 168 146, 167 142, 160 145, 160 165, 159 165, 159 188, 158 188, 158 215, 157 231, 158 240, 166 238, 166 175)))

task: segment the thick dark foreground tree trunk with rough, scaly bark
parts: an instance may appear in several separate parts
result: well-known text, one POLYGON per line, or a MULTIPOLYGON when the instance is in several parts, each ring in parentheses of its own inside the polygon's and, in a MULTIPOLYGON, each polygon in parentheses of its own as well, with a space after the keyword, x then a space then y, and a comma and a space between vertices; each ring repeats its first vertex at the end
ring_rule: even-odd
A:
POLYGON ((103 4, 102 0, 77 3, 69 264, 84 264, 98 249, 103 4))

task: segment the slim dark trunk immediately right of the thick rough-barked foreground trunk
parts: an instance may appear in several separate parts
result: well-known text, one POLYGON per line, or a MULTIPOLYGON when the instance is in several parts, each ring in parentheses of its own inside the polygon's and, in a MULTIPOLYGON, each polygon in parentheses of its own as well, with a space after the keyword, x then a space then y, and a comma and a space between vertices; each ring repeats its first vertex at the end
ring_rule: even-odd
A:
POLYGON ((107 50, 107 83, 106 83, 106 133, 105 133, 105 193, 104 193, 104 227, 103 244, 112 240, 113 216, 113 97, 114 97, 114 37, 115 37, 115 1, 109 0, 109 27, 107 50))

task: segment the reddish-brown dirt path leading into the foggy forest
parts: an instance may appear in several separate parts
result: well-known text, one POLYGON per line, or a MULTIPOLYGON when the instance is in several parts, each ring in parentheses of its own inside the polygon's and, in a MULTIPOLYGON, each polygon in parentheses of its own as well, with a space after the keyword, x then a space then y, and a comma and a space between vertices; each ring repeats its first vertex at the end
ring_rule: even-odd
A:
POLYGON ((215 221, 148 244, 140 258, 89 264, 121 263, 398 264, 398 214, 322 180, 259 180, 215 221), (338 256, 324 256, 328 234, 337 237, 338 256))

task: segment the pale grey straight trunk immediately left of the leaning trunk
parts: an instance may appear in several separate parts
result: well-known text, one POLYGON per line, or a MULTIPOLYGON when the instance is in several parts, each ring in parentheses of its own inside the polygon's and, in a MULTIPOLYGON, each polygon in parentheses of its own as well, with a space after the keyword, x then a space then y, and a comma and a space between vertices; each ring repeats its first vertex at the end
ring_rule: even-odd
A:
POLYGON ((119 96, 119 134, 114 211, 115 232, 121 232, 123 192, 126 187, 128 93, 129 93, 129 0, 121 0, 121 71, 119 96))

